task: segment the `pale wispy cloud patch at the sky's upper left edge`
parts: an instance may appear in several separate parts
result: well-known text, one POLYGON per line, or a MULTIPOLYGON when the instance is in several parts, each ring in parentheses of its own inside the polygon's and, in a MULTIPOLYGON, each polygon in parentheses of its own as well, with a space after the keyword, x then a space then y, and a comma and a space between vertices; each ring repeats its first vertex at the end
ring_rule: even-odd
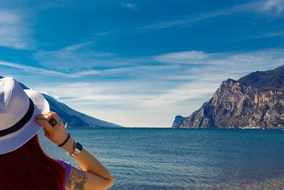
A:
POLYGON ((20 11, 0 9, 0 46, 29 49, 32 48, 31 28, 20 11))

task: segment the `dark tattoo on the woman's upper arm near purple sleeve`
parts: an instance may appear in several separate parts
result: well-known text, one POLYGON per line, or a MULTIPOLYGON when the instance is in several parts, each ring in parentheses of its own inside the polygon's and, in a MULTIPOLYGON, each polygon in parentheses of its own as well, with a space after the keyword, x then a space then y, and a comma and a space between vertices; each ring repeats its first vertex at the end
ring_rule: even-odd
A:
POLYGON ((71 189, 72 185, 74 185, 74 190, 84 190, 84 184, 87 183, 87 180, 88 176, 84 171, 72 166, 71 174, 66 186, 71 189))

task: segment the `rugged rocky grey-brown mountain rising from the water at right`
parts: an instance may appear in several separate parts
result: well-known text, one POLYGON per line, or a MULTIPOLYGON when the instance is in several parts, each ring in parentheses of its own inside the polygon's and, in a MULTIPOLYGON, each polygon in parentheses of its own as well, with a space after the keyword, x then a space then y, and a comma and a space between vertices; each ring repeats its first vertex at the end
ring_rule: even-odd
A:
POLYGON ((284 126, 284 65, 222 82, 213 97, 189 117, 178 115, 173 128, 284 126))

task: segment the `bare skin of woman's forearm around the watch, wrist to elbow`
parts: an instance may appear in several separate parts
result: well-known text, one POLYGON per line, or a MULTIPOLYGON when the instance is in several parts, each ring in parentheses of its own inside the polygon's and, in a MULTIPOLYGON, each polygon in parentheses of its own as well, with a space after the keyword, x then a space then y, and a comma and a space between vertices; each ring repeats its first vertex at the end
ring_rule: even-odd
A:
MULTIPOLYGON (((75 140, 70 137, 70 139, 62 146, 66 152, 71 154, 75 149, 75 140)), ((75 158, 76 162, 80 165, 83 171, 89 171, 92 174, 96 174, 97 176, 101 176, 104 179, 112 180, 110 172, 104 167, 99 160, 97 160, 92 154, 90 154, 87 149, 82 149, 80 154, 78 154, 75 158)))

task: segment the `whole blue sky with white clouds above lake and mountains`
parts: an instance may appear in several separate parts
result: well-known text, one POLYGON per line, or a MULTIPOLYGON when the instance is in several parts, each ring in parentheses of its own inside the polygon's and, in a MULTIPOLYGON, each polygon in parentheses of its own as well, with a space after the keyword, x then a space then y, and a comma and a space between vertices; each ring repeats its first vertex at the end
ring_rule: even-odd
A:
POLYGON ((284 64, 284 1, 3 1, 0 75, 126 127, 171 127, 284 64))

